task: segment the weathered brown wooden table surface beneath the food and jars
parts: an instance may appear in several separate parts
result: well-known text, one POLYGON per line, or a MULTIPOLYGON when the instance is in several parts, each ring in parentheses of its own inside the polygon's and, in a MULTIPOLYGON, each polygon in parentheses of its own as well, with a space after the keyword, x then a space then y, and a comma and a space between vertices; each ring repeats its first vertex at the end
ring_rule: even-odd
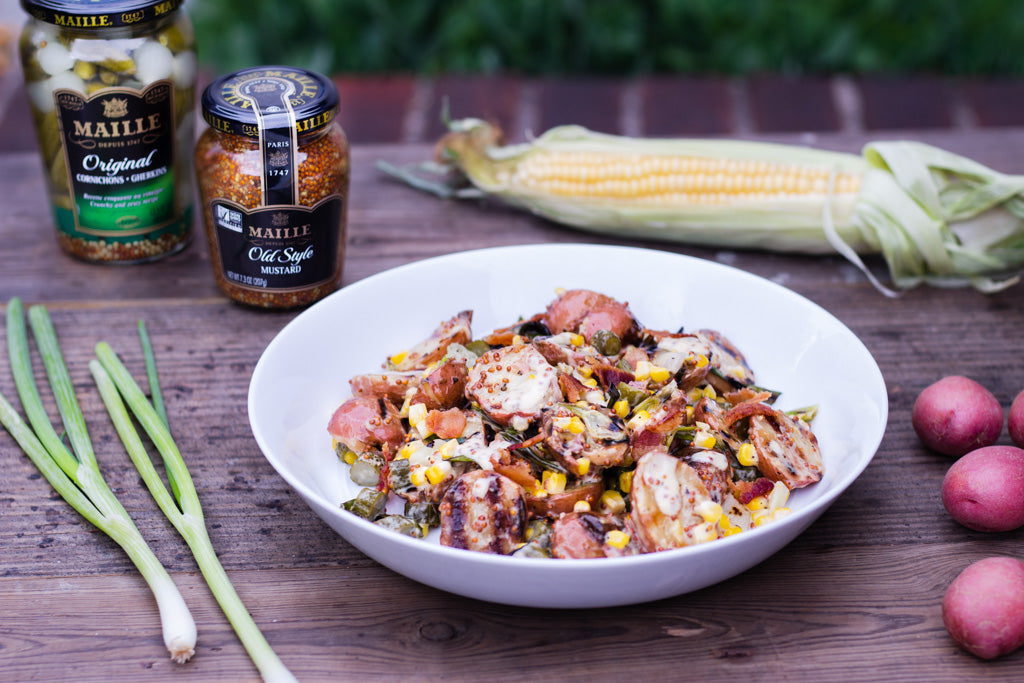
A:
MULTIPOLYGON (((902 136, 1024 173, 1021 130, 902 136)), ((848 134, 791 139, 850 152, 865 142, 848 134)), ((37 158, 3 154, 0 300, 18 296, 50 308, 104 472, 181 587, 200 637, 187 665, 168 659, 151 594, 124 553, 71 510, 0 432, 0 679, 257 678, 187 549, 140 485, 86 370, 94 344, 105 339, 140 372, 138 318, 154 339, 172 425, 213 544, 267 640, 301 680, 1024 679, 1024 651, 976 659, 947 637, 939 609, 946 586, 973 560, 1024 557, 1024 531, 985 535, 953 522, 939 496, 950 461, 924 449, 910 426, 914 396, 944 375, 974 377, 1004 407, 1024 389, 1024 286, 994 295, 922 288, 887 299, 839 257, 598 238, 497 206, 441 202, 374 169, 378 159, 420 161, 429 152, 353 151, 345 284, 453 251, 549 242, 645 246, 737 266, 825 307, 872 352, 890 419, 870 466, 782 552, 692 594, 546 610, 419 585, 336 536, 252 437, 250 375, 296 313, 222 298, 199 231, 186 251, 154 264, 106 267, 69 258, 54 238, 37 158)), ((883 272, 881 260, 869 264, 883 272)), ((741 303, 736 310, 741 317, 741 303)), ((6 360, 0 391, 14 396, 6 360)), ((1009 443, 1005 433, 1000 442, 1009 443)))

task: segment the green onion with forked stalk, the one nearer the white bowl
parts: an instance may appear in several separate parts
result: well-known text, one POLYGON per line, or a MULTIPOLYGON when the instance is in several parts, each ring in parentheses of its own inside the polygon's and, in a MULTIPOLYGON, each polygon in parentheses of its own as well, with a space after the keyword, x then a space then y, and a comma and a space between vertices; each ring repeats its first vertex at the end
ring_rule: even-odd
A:
POLYGON ((91 361, 89 370, 96 380, 103 403, 129 457, 142 475, 142 480, 153 494, 157 505, 188 544, 210 590, 263 680, 295 680, 260 633, 217 559, 206 530, 203 510, 191 476, 167 424, 146 399, 145 394, 109 344, 105 342, 97 344, 96 356, 98 361, 91 361), (157 474, 128 415, 125 402, 163 457, 169 480, 177 483, 173 497, 157 474))

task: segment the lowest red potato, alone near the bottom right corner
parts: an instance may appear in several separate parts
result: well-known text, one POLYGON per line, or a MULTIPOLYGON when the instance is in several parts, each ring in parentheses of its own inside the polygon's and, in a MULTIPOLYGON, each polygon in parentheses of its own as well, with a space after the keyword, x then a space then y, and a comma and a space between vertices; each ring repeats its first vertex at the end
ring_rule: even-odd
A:
POLYGON ((964 569, 942 598, 942 623, 957 645, 983 659, 1024 645, 1024 562, 988 557, 964 569))

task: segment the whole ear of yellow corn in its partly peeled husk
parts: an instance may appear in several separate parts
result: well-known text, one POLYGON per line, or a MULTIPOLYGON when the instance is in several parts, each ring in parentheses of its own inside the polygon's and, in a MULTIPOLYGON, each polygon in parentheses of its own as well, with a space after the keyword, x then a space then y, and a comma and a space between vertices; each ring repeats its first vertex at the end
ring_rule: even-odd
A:
POLYGON ((503 145, 477 119, 450 123, 438 144, 456 189, 380 164, 443 197, 490 195, 598 232, 706 246, 839 252, 864 266, 881 253, 900 289, 970 284, 994 291, 1024 267, 1024 176, 997 173, 914 142, 862 156, 796 145, 644 139, 554 128, 503 145))

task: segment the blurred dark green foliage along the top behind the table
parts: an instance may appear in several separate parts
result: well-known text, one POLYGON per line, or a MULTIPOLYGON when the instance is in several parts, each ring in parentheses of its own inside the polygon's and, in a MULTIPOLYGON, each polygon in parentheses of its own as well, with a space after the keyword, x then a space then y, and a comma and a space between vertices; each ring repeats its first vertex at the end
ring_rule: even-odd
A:
POLYGON ((1024 74, 1021 0, 189 0, 204 65, 325 73, 1024 74))

